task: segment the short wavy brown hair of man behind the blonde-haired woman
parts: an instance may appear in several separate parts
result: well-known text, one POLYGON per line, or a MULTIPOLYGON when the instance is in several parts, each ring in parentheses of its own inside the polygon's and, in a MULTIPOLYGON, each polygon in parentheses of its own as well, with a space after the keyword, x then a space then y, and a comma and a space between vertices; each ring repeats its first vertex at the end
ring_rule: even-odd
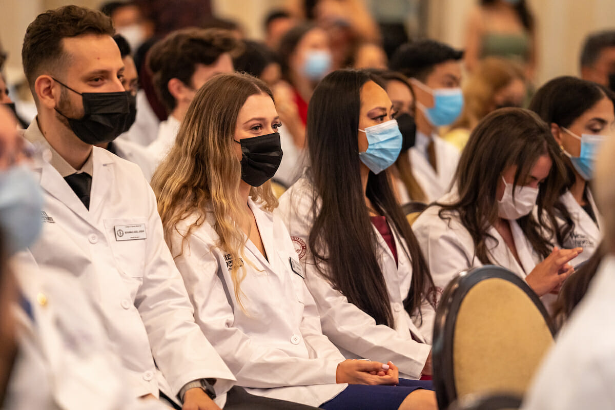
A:
POLYGON ((197 64, 212 65, 223 53, 234 53, 239 42, 227 30, 216 28, 186 28, 173 31, 153 45, 148 67, 154 87, 167 111, 173 111, 177 101, 167 85, 173 78, 191 86, 197 64))

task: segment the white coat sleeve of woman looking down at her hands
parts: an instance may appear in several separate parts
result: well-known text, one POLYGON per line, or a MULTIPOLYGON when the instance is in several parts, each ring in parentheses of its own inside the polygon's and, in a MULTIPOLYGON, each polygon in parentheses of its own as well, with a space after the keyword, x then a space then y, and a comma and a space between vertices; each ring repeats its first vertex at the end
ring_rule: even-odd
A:
POLYGON ((482 266, 474 258, 474 244, 469 233, 454 219, 451 225, 440 219, 438 208, 428 208, 412 225, 416 239, 434 279, 438 297, 446 285, 462 270, 482 266))

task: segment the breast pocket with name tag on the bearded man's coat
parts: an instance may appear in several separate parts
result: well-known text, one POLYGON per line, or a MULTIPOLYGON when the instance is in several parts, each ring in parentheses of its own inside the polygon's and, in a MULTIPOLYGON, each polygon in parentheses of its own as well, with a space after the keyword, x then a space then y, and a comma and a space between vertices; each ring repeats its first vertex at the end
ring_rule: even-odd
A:
POLYGON ((147 218, 105 219, 105 235, 117 270, 129 277, 143 277, 148 235, 147 218))

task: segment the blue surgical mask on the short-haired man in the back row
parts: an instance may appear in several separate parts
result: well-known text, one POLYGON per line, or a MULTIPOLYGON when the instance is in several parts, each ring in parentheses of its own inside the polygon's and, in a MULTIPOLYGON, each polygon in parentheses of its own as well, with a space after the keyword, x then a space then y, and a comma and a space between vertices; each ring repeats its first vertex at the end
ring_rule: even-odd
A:
POLYGON ((418 80, 414 81, 413 84, 418 85, 434 96, 434 106, 432 108, 427 108, 418 101, 416 103, 416 106, 425 113, 427 120, 432 125, 435 127, 451 125, 459 117, 464 102, 461 88, 432 90, 418 80))

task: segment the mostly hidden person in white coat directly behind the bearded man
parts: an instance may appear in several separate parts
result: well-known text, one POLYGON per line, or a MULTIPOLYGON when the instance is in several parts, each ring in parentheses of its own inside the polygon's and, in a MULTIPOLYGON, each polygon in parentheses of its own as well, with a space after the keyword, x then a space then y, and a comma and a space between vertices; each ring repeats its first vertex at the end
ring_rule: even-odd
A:
MULTIPOLYGON (((137 74, 137 67, 135 66, 135 60, 133 60, 132 55, 130 55, 130 45, 126 39, 124 39, 121 34, 116 34, 113 36, 113 39, 116 41, 119 52, 122 55, 122 61, 124 61, 122 85, 124 85, 124 90, 129 93, 130 101, 130 117, 126 124, 128 130, 135 123, 135 117, 137 116, 137 89, 139 77, 137 74)), ((143 171, 145 179, 149 181, 152 178, 154 173, 153 160, 151 160, 145 148, 142 146, 121 138, 121 136, 109 143, 97 144, 97 146, 113 152, 120 158, 134 162, 141 168, 141 171, 143 171)))

